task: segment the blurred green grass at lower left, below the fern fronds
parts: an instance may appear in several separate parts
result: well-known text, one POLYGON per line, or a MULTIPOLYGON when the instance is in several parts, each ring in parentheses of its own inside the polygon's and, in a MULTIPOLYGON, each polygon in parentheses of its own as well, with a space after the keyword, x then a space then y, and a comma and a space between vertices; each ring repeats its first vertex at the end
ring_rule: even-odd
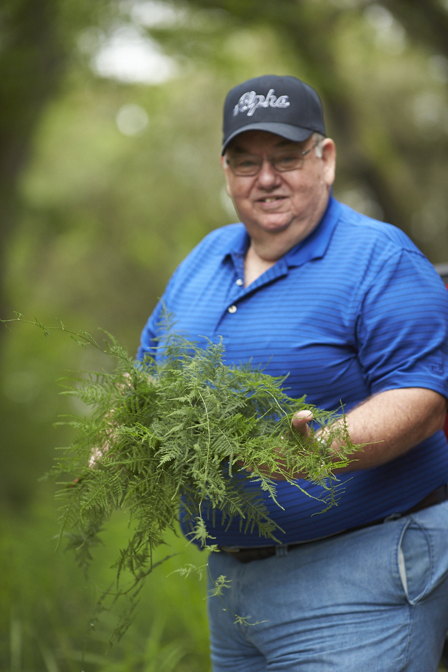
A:
POLYGON ((71 553, 54 552, 57 514, 49 495, 41 492, 32 513, 2 517, 0 669, 209 672, 206 581, 173 573, 188 562, 203 564, 200 552, 182 537, 170 536, 169 548, 161 553, 177 555, 154 570, 130 630, 107 652, 118 610, 103 612, 97 620, 95 601, 97 588, 114 578, 111 544, 124 543, 126 517, 111 520, 86 581, 71 553))

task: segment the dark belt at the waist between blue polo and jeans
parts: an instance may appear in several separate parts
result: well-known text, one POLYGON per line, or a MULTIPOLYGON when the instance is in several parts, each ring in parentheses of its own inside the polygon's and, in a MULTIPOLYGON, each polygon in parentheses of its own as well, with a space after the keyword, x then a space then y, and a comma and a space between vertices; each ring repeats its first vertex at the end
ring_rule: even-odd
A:
MULTIPOLYGON (((371 523, 366 523, 365 525, 359 525, 357 528, 350 528, 349 530, 343 530, 342 532, 335 532, 334 534, 329 534, 327 537, 321 537, 320 539, 328 539, 331 537, 340 536, 341 534, 348 534, 349 532, 355 532, 355 530, 363 530, 363 528, 371 528, 373 525, 381 525, 385 521, 394 520, 400 518, 403 515, 409 515, 410 513, 416 513, 416 511, 422 511, 422 509, 427 509, 430 506, 435 506, 436 504, 441 504, 442 502, 448 499, 448 485, 441 485, 441 487, 433 490, 432 493, 429 493, 424 499, 418 502, 415 506, 404 513, 396 513, 388 515, 386 518, 381 520, 374 520, 371 523)), ((311 541, 318 541, 318 539, 312 539, 311 541)), ((302 546, 307 542, 298 542, 298 544, 287 544, 287 546, 281 546, 288 550, 289 548, 296 548, 296 546, 302 546)), ((309 542, 308 542, 309 543, 309 542)), ((220 550, 224 551, 228 555, 231 555, 233 558, 236 558, 239 562, 251 562, 252 560, 263 560, 264 558, 270 558, 275 555, 276 549, 279 546, 256 546, 255 548, 226 548, 226 546, 220 546, 220 550)))

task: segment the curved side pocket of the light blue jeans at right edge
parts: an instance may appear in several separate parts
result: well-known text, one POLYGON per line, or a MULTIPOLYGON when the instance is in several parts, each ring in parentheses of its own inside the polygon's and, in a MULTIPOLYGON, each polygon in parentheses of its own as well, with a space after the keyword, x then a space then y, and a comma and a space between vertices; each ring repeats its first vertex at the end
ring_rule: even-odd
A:
POLYGON ((400 537, 397 560, 404 594, 408 602, 414 605, 431 586, 433 555, 427 532, 413 519, 400 537))

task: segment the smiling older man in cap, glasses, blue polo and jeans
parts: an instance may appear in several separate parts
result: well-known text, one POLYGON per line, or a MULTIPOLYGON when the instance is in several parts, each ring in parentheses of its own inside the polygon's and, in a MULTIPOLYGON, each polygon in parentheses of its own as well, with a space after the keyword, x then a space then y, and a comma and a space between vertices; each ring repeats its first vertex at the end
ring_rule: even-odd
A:
POLYGON ((365 444, 337 507, 322 513, 302 479, 279 480, 280 506, 263 493, 279 544, 209 521, 210 576, 230 581, 209 600, 214 672, 432 672, 448 627, 448 294, 402 231, 332 198, 335 158, 314 89, 273 75, 232 89, 222 167, 242 223, 201 241, 163 296, 179 331, 222 336, 229 364, 342 402, 365 444))

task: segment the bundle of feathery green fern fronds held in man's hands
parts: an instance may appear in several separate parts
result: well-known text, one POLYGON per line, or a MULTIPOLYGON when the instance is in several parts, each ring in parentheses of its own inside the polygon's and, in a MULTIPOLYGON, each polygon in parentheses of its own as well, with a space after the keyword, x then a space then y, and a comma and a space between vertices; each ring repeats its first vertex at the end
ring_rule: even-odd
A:
MULTIPOLYGON (((46 335, 51 331, 34 324, 46 335)), ((250 365, 230 368, 222 362, 222 343, 199 347, 172 329, 164 330, 161 356, 136 363, 110 335, 101 347, 85 332, 72 333, 62 324, 55 328, 116 362, 114 372, 91 372, 62 392, 77 396, 92 412, 66 419, 75 440, 62 449, 52 470, 56 476, 70 474, 57 494, 60 539, 68 539, 84 568, 112 513, 129 512, 132 532, 117 554, 114 594, 128 594, 131 601, 115 636, 128 627, 138 592, 155 566, 154 548, 167 530, 175 530, 179 507, 191 537, 215 550, 206 518, 215 519, 217 512, 224 525, 238 517, 243 531, 256 529, 261 538, 276 541, 277 527, 261 495, 247 488, 256 480, 259 492, 267 491, 275 501, 271 472, 298 488, 294 475, 308 474, 324 488, 322 509, 334 505, 334 469, 346 466, 359 446, 351 443, 344 417, 341 421, 339 414, 335 423, 334 413, 307 404, 304 397, 290 398, 284 378, 250 365), (292 418, 303 410, 312 411, 314 427, 324 430, 328 444, 339 442, 338 462, 314 430, 310 437, 293 431, 292 418), (122 587, 124 572, 132 581, 122 587)))

